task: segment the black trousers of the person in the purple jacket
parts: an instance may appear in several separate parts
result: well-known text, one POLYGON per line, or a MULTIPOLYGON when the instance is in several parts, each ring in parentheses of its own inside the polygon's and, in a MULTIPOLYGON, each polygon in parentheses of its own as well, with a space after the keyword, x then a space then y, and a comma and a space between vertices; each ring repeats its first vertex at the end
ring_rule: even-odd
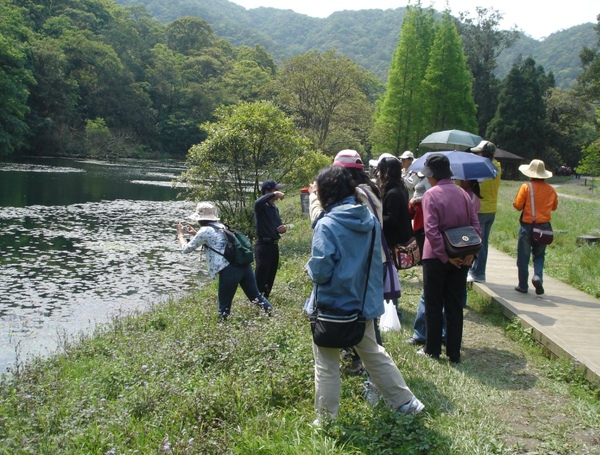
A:
POLYGON ((446 355, 460 360, 463 332, 463 302, 467 292, 468 267, 456 268, 439 259, 423 260, 425 294, 425 352, 438 357, 442 352, 442 324, 446 314, 446 355))

